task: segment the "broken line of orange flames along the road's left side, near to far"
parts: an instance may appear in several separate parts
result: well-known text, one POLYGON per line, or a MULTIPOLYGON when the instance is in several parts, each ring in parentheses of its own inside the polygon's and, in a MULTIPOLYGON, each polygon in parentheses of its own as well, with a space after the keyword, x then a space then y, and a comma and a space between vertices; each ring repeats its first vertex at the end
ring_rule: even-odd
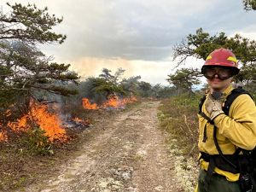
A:
MULTIPOLYGON (((82 105, 85 110, 97 110, 97 109, 116 109, 125 108, 127 103, 136 102, 137 98, 131 96, 129 98, 119 98, 118 96, 111 96, 102 105, 97 105, 96 103, 91 103, 88 98, 82 99, 82 105)), ((12 115, 11 111, 8 110, 5 113, 6 117, 12 115)), ((79 125, 89 125, 88 120, 79 119, 75 117, 71 119, 73 123, 79 125)), ((7 142, 9 140, 9 131, 15 132, 17 134, 32 130, 32 127, 38 126, 44 130, 44 135, 48 137, 49 142, 61 142, 65 143, 70 138, 67 136, 67 124, 63 122, 63 118, 59 113, 49 112, 49 105, 42 104, 31 100, 29 104, 28 113, 24 114, 20 119, 14 122, 8 122, 3 129, 3 125, 0 124, 0 142, 7 142)))

